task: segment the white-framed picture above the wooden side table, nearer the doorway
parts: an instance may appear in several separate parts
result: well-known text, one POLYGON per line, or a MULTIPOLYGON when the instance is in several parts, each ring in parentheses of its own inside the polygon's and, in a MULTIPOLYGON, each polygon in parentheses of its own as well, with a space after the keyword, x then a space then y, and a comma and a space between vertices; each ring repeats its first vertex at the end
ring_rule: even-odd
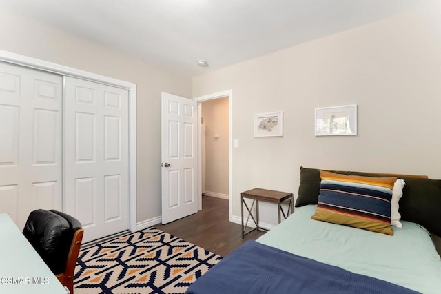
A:
POLYGON ((283 112, 254 115, 254 137, 283 136, 283 112))

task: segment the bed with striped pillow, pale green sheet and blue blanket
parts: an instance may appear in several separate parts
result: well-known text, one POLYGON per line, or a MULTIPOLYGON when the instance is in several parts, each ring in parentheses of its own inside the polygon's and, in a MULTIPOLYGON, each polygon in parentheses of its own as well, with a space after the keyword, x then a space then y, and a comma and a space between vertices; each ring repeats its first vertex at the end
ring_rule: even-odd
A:
MULTIPOLYGON (((358 197, 359 192, 353 194, 358 197)), ((366 198, 373 201, 363 195, 366 198)), ((441 293, 441 257, 434 246, 439 244, 437 235, 441 235, 439 180, 300 168, 295 213, 256 242, 246 242, 227 255, 189 286, 187 293, 441 293), (376 219, 373 227, 371 222, 367 226, 317 220, 320 209, 327 210, 331 203, 326 202, 329 191, 342 190, 333 181, 349 183, 353 193, 360 181, 384 180, 389 184, 378 184, 378 202, 387 190, 384 186, 398 179, 405 182, 402 197, 396 200, 402 227, 390 225, 396 217, 392 215, 389 225, 380 224, 381 228, 382 219, 376 219)))

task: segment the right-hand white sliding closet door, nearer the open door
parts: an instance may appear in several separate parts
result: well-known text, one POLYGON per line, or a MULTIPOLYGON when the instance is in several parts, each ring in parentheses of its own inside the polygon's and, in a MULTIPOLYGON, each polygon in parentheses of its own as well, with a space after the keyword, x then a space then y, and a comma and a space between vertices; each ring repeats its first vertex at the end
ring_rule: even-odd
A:
POLYGON ((65 211, 84 241, 128 227, 128 90, 65 77, 65 211))

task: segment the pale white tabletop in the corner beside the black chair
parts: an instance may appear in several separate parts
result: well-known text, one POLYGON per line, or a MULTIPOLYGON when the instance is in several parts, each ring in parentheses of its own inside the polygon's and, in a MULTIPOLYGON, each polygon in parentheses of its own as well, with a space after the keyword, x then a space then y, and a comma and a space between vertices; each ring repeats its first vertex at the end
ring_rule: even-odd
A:
POLYGON ((0 213, 0 264, 0 293, 69 293, 7 213, 0 213))

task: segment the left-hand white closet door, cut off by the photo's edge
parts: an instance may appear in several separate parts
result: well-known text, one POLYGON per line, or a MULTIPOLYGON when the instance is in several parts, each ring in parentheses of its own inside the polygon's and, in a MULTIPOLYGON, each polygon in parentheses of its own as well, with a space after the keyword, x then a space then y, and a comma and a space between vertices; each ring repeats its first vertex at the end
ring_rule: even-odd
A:
POLYGON ((0 62, 0 212, 23 228, 37 208, 61 210, 62 85, 0 62))

